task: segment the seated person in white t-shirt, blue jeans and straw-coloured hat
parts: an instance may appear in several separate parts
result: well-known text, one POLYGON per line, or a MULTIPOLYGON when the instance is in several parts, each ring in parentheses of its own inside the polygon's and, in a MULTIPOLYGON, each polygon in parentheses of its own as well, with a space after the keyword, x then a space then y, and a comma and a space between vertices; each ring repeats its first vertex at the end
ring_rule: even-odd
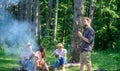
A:
POLYGON ((57 58, 55 65, 54 65, 55 71, 58 70, 58 67, 60 65, 63 65, 63 71, 65 71, 64 64, 67 63, 67 58, 66 58, 67 50, 64 49, 64 46, 62 43, 59 43, 57 46, 58 48, 51 54, 51 56, 56 55, 56 58, 57 58))

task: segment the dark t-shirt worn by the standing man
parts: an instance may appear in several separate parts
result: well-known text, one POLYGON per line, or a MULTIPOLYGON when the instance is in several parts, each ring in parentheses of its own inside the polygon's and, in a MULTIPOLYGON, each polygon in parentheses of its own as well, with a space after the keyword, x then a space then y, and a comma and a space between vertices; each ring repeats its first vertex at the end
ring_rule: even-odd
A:
POLYGON ((88 27, 85 31, 83 36, 89 40, 90 43, 85 42, 82 40, 80 51, 92 51, 93 45, 94 45, 94 38, 95 38, 95 32, 92 27, 88 27))

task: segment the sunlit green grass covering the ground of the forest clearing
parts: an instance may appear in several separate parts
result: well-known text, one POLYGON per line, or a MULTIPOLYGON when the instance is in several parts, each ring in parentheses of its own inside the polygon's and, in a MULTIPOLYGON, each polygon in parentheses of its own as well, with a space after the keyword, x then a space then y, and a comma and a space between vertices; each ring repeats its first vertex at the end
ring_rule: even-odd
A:
MULTIPOLYGON (((52 51, 47 50, 46 61, 54 64, 55 58, 49 55, 52 51)), ((15 56, 7 56, 0 49, 0 71, 13 71, 13 67, 18 67, 18 58, 15 56)), ((92 53, 93 70, 98 68, 106 69, 107 71, 120 71, 120 54, 114 52, 93 52, 92 53)), ((66 68, 67 71, 79 71, 79 67, 66 68)))

